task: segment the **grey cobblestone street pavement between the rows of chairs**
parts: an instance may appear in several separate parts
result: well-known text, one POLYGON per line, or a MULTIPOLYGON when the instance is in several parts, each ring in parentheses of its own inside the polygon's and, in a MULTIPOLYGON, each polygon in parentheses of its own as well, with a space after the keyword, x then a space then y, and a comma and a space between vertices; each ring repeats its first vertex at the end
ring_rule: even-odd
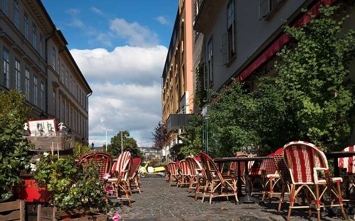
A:
MULTIPOLYGON (((131 201, 132 208, 127 202, 116 208, 123 220, 285 220, 287 216, 286 204, 280 213, 276 211, 277 201, 236 205, 215 198, 210 205, 207 200, 201 203, 200 198, 195 202, 194 193, 189 194, 187 188, 169 187, 163 178, 154 177, 141 179, 141 194, 134 192, 131 201)), ((294 210, 292 219, 316 220, 305 219, 307 214, 306 210, 294 210)), ((324 220, 341 219, 322 216, 324 220)))

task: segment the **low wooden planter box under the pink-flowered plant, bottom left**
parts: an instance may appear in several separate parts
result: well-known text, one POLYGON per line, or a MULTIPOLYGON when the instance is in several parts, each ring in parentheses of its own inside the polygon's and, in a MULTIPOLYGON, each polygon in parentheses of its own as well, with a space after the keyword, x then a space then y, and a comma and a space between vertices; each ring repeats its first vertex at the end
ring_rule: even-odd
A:
POLYGON ((91 212, 88 215, 84 215, 82 211, 73 210, 73 211, 57 211, 56 207, 38 207, 38 221, 57 221, 61 219, 70 220, 70 221, 87 221, 87 220, 95 220, 95 221, 106 221, 107 215, 101 214, 98 212, 91 212))

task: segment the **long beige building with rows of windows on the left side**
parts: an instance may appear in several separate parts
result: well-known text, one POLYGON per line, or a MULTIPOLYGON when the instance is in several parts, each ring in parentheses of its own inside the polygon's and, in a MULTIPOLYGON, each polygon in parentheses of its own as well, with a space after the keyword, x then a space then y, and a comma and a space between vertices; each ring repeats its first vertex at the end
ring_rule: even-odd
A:
POLYGON ((1 0, 0 90, 16 89, 30 117, 56 118, 88 143, 92 90, 40 0, 1 0))

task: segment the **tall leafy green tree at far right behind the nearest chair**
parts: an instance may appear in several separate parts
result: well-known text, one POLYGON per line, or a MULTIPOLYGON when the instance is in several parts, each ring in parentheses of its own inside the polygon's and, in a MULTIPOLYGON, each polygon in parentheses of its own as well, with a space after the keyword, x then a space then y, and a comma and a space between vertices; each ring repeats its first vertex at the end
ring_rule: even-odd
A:
POLYGON ((338 8, 320 8, 318 17, 301 28, 285 25, 297 45, 283 48, 277 54, 281 61, 275 64, 275 83, 300 124, 299 139, 330 150, 342 149, 348 140, 355 102, 348 78, 355 30, 339 37, 346 18, 334 19, 338 8))

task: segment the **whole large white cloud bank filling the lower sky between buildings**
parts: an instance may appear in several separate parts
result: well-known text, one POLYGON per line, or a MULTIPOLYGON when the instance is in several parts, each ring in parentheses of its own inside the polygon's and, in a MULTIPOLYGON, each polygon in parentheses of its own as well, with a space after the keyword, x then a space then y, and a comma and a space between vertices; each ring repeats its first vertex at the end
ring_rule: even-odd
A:
MULTIPOLYGON (((139 146, 151 145, 151 132, 161 120, 160 76, 167 49, 122 46, 70 50, 89 81, 89 142, 108 141, 123 128, 139 146)), ((97 143, 97 145, 96 145, 97 143)))

